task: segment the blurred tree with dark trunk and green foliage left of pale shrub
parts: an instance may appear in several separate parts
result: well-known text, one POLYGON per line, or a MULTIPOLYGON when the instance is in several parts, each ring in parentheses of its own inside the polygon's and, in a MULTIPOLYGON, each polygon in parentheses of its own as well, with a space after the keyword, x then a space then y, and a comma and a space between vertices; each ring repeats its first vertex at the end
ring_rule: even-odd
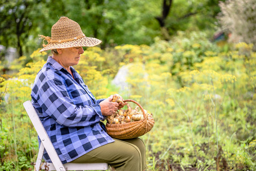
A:
POLYGON ((159 22, 162 37, 169 40, 169 35, 178 30, 213 30, 214 22, 217 21, 216 15, 220 12, 218 2, 162 0, 161 15, 155 17, 159 22))

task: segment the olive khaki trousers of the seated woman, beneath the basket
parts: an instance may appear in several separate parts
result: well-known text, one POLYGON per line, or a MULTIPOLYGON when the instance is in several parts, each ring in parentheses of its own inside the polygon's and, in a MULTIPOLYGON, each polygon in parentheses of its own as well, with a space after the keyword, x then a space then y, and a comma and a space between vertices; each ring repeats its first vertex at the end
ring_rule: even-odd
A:
POLYGON ((124 171, 146 169, 146 149, 141 139, 114 140, 115 142, 91 150, 91 152, 71 162, 106 162, 116 170, 124 171))

